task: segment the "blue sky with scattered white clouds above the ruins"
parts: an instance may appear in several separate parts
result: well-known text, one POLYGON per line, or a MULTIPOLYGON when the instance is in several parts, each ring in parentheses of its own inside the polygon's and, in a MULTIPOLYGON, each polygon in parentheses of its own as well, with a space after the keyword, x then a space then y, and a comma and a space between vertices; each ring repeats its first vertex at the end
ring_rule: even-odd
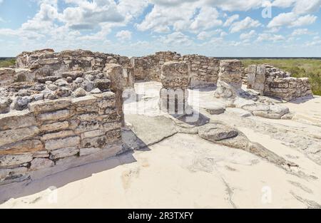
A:
POLYGON ((0 0, 0 56, 83 48, 143 56, 321 57, 321 0, 0 0))

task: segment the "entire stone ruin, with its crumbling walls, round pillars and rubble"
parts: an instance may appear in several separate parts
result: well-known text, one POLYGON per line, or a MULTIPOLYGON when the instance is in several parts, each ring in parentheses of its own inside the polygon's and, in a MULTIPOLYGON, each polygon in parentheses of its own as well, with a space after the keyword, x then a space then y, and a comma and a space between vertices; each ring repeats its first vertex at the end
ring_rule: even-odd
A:
MULTIPOLYGON (((266 65, 247 71, 248 87, 265 95, 291 100, 311 94, 305 78, 290 78, 266 65)), ((162 84, 159 105, 165 113, 192 113, 188 88, 217 85, 213 100, 233 99, 226 107, 264 118, 290 118, 285 106, 245 93, 242 77, 238 60, 175 52, 137 58, 83 50, 21 53, 16 68, 0 69, 0 185, 35 180, 124 152, 123 92, 133 89, 135 81, 162 84)), ((218 110, 223 113, 225 108, 218 110)), ((204 128, 200 135, 222 136, 222 125, 204 128)), ((241 137, 227 129, 223 139, 241 137)), ((257 145, 246 142, 239 147, 262 154, 257 145)))

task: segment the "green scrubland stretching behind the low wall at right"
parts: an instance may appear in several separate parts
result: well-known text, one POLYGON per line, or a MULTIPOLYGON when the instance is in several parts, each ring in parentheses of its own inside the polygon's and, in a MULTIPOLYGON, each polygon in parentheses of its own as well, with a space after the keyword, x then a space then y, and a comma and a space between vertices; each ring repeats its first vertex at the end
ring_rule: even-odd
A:
POLYGON ((272 66, 290 72, 292 77, 310 79, 312 92, 321 95, 321 60, 320 59, 244 59, 243 66, 269 63, 272 66))

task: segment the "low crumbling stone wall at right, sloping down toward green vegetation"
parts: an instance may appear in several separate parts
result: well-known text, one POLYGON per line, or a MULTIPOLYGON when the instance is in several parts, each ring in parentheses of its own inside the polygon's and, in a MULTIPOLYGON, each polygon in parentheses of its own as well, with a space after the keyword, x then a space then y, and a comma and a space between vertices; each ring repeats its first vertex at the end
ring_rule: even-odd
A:
POLYGON ((293 100, 312 95, 308 78, 292 78, 290 73, 273 66, 251 65, 248 71, 248 88, 263 95, 270 95, 283 100, 293 100))

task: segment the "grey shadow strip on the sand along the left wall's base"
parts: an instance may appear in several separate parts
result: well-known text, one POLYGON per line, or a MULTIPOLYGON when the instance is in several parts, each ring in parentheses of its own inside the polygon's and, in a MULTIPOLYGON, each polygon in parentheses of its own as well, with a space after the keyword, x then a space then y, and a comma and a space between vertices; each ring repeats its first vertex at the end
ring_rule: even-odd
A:
POLYGON ((29 182, 16 182, 10 185, 1 185, 0 204, 3 204, 11 198, 16 199, 19 197, 34 195, 49 188, 63 187, 71 182, 76 182, 78 180, 91 177, 98 172, 111 170, 121 165, 137 162, 135 157, 133 157, 133 150, 148 151, 151 149, 145 145, 144 142, 139 139, 131 130, 127 131, 130 131, 130 134, 127 134, 127 137, 125 137, 125 148, 121 154, 106 158, 106 160, 91 162, 78 167, 72 167, 68 170, 63 170, 53 175, 42 177, 38 180, 32 180, 29 182), (131 136, 133 138, 130 138, 131 136), (139 147, 135 147, 136 145, 139 145, 139 147))

